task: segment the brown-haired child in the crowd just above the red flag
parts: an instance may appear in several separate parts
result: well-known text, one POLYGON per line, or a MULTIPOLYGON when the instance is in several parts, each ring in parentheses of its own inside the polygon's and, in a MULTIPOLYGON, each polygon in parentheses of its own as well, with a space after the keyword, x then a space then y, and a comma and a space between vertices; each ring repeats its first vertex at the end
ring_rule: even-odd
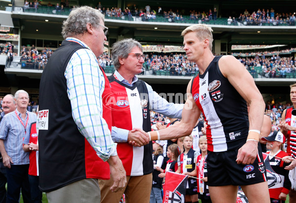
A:
POLYGON ((171 144, 168 147, 167 151, 167 157, 169 158, 169 161, 167 162, 165 170, 163 170, 161 167, 156 166, 155 169, 160 171, 160 174, 158 177, 164 178, 165 177, 165 171, 177 171, 178 170, 178 157, 179 157, 180 149, 177 144, 171 144))

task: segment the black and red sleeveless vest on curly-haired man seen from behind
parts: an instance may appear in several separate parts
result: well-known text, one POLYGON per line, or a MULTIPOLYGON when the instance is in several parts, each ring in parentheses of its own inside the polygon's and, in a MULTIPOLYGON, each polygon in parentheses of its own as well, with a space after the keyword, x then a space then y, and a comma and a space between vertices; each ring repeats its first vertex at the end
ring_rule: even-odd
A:
MULTIPOLYGON (((108 162, 98 157, 79 132, 72 116, 64 73, 74 52, 81 48, 86 47, 73 41, 63 41, 51 55, 41 76, 39 109, 48 110, 49 114, 48 129, 38 131, 39 187, 42 192, 50 192, 85 178, 110 178, 108 162), (54 102, 52 98, 56 98, 54 102)), ((100 69, 105 78, 104 97, 111 93, 111 87, 100 69)), ((111 110, 104 103, 102 108, 103 118, 111 132, 111 110)))

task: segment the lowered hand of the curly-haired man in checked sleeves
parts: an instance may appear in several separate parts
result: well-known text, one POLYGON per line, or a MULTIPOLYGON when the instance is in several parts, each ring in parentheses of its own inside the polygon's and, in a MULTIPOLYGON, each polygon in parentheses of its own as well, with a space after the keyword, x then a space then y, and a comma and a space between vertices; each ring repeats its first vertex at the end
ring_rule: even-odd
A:
POLYGON ((118 156, 111 156, 107 161, 110 165, 111 176, 114 180, 111 192, 122 190, 126 185, 126 172, 118 156))

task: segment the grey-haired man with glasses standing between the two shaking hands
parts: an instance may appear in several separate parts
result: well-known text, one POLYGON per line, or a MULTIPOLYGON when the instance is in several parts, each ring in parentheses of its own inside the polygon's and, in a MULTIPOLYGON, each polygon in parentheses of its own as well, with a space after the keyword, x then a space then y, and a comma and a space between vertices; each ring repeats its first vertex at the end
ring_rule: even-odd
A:
POLYGON ((136 75, 142 72, 145 58, 138 41, 117 41, 112 45, 111 57, 116 69, 109 77, 112 94, 103 98, 103 102, 112 109, 111 136, 117 142, 127 184, 124 190, 112 194, 109 190, 112 181, 99 180, 101 203, 118 203, 123 193, 128 203, 148 203, 152 187, 152 142, 141 132, 151 130, 150 109, 170 118, 181 118, 184 105, 168 103, 150 85, 138 80, 136 75))

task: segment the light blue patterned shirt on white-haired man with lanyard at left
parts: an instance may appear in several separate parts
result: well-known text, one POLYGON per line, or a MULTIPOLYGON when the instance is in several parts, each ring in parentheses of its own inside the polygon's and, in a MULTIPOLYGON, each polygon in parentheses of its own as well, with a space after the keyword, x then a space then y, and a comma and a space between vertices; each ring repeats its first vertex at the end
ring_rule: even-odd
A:
POLYGON ((26 131, 30 130, 31 123, 36 122, 36 120, 36 114, 28 111, 26 112, 26 119, 23 119, 21 113, 16 109, 16 111, 6 114, 0 123, 0 139, 4 140, 5 150, 14 165, 29 164, 29 153, 23 150, 23 140, 26 131), (15 112, 19 115, 24 125, 26 125, 29 116, 26 129, 17 118, 15 112))

